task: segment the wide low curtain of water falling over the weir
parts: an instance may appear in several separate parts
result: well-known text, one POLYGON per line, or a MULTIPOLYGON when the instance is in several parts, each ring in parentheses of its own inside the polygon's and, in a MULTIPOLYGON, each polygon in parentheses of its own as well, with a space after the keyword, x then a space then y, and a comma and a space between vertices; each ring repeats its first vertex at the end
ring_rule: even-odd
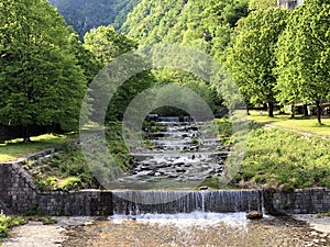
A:
POLYGON ((262 190, 113 191, 113 214, 262 211, 262 190))

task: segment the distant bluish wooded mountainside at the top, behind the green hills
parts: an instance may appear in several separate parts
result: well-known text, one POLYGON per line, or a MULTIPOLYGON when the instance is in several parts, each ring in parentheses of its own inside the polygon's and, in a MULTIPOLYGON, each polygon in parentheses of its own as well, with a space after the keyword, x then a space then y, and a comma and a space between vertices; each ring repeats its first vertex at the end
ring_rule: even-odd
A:
POLYGON ((100 25, 111 24, 119 30, 138 2, 140 0, 50 0, 80 38, 100 25))

